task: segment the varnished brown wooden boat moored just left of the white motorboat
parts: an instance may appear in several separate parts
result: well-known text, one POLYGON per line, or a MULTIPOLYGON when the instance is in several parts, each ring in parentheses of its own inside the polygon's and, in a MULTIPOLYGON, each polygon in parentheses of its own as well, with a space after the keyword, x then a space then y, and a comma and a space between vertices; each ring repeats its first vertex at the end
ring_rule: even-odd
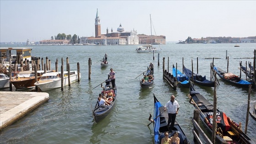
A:
POLYGON ((37 80, 32 76, 30 78, 14 78, 10 80, 10 82, 16 87, 16 89, 21 89, 35 87, 34 83, 38 80, 40 80, 40 76, 37 76, 37 80))

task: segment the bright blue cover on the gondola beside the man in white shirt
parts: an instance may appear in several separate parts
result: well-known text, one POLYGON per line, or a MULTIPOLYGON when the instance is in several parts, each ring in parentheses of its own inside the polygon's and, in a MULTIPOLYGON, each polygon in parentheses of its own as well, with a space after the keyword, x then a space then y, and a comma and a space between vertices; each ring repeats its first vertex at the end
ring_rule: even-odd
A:
MULTIPOLYGON (((154 106, 154 119, 155 117, 160 115, 160 107, 163 107, 163 105, 158 101, 155 102, 154 106)), ((159 128, 160 128, 160 117, 157 117, 155 119, 155 124, 154 124, 154 135, 155 135, 155 144, 159 144, 159 128)))

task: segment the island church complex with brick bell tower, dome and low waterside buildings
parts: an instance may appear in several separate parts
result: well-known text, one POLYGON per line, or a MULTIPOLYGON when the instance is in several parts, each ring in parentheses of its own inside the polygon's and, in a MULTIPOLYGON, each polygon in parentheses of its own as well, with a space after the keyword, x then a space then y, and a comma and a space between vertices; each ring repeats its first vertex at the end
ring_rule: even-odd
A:
MULTIPOLYGON (((40 44, 71 44, 70 40, 43 40, 40 44)), ((95 37, 80 37, 80 44, 90 45, 137 45, 137 44, 165 44, 165 36, 148 36, 144 34, 137 35, 136 30, 124 31, 122 24, 117 27, 117 32, 109 32, 108 28, 105 34, 101 34, 101 19, 98 15, 98 9, 95 18, 95 37)))

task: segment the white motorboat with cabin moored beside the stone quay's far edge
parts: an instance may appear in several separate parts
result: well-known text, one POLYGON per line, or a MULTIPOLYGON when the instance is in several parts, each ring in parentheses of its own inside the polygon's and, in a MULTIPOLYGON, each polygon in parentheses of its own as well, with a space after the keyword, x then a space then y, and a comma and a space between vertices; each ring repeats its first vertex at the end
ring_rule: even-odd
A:
MULTIPOLYGON (((81 74, 79 74, 81 76, 81 74)), ((78 79, 77 71, 70 71, 70 82, 78 79)), ((42 75, 41 79, 34 83, 42 91, 48 91, 61 87, 61 72, 49 72, 42 75)), ((69 85, 68 71, 64 71, 63 85, 69 85)))

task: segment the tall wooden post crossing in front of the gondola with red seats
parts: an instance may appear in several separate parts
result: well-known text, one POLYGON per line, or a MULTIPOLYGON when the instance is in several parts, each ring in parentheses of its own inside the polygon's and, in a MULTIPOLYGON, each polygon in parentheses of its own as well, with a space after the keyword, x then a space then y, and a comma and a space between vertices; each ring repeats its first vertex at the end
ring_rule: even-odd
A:
POLYGON ((213 90, 213 133, 212 133, 212 142, 213 144, 215 144, 215 131, 216 131, 216 127, 217 127, 217 123, 216 123, 216 113, 217 113, 217 94, 216 94, 216 85, 217 85, 217 77, 216 77, 216 73, 214 73, 214 90, 213 90))

